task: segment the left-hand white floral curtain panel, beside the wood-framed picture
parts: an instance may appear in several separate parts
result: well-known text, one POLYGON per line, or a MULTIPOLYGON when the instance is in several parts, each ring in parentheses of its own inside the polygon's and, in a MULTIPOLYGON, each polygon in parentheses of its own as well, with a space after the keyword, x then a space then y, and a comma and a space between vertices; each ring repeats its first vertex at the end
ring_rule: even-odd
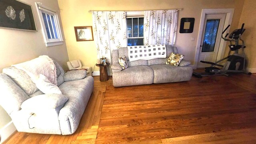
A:
POLYGON ((92 20, 98 58, 106 57, 111 63, 112 50, 127 46, 126 13, 94 11, 92 20))

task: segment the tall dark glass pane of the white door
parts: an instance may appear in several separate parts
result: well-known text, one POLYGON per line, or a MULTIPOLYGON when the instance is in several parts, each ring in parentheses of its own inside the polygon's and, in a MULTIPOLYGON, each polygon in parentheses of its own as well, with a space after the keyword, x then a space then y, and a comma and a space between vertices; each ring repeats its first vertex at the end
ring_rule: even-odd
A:
POLYGON ((202 52, 214 52, 220 19, 207 20, 202 52))

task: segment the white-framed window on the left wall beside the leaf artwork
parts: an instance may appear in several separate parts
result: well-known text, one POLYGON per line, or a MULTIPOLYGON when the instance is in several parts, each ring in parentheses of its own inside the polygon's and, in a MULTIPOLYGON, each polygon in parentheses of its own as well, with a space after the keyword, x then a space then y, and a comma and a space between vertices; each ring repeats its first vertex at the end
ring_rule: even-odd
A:
POLYGON ((38 3, 36 6, 46 46, 63 44, 57 12, 38 3))

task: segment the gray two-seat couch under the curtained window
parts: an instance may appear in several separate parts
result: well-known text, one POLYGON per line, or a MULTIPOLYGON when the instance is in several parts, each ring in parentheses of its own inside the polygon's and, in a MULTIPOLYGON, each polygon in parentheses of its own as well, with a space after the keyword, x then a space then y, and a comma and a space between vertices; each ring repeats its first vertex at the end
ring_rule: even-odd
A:
POLYGON ((178 53, 178 49, 171 45, 166 45, 166 58, 136 60, 130 62, 128 57, 128 48, 113 50, 111 66, 113 85, 115 87, 119 87, 190 80, 193 69, 185 64, 190 62, 182 60, 180 65, 185 66, 171 66, 165 64, 172 52, 178 53), (118 62, 119 56, 126 57, 129 66, 128 68, 122 70, 122 67, 118 62))

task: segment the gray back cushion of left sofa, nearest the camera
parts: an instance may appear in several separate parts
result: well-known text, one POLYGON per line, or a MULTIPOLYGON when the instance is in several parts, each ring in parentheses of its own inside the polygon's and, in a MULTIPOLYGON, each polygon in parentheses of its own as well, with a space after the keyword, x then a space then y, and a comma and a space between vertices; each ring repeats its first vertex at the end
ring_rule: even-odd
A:
POLYGON ((32 82, 30 76, 23 70, 20 70, 14 66, 4 68, 3 73, 9 76, 26 94, 30 95, 38 91, 36 84, 32 82))

